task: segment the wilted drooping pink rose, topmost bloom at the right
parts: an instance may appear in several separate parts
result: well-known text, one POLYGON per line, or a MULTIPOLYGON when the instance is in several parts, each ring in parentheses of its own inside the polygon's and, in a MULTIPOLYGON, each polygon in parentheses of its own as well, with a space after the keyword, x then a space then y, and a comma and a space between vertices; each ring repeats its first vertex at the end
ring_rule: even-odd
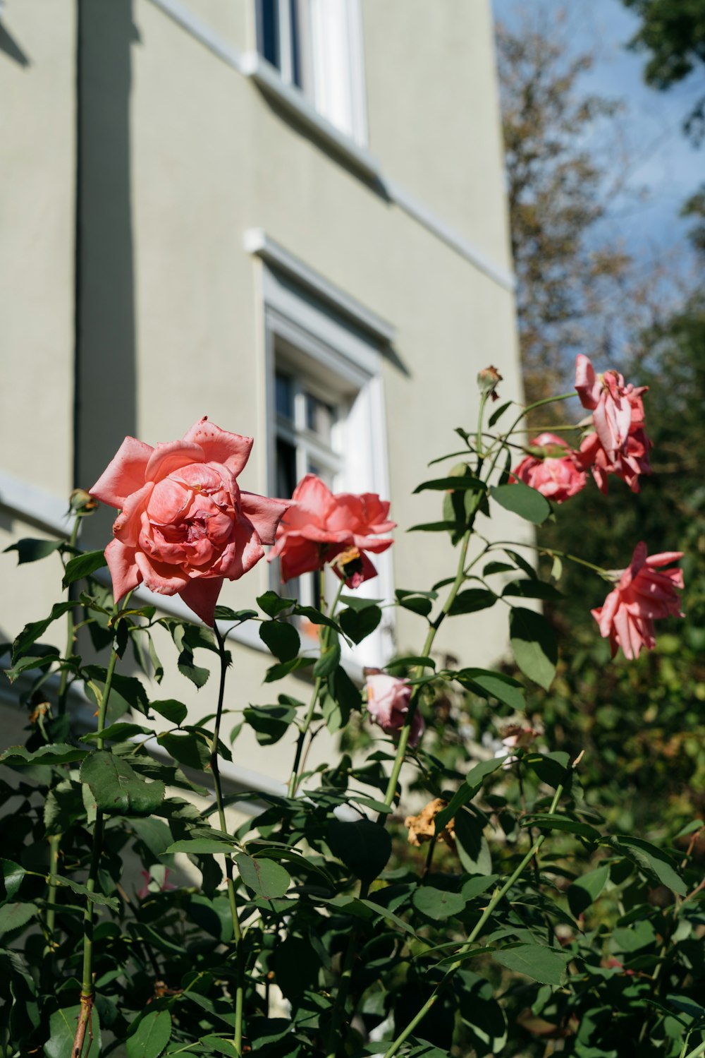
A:
POLYGON ((593 414, 600 444, 613 459, 625 450, 632 424, 643 425, 642 394, 649 387, 625 385, 624 376, 614 370, 595 375, 589 358, 580 353, 575 362, 575 388, 582 406, 593 414))

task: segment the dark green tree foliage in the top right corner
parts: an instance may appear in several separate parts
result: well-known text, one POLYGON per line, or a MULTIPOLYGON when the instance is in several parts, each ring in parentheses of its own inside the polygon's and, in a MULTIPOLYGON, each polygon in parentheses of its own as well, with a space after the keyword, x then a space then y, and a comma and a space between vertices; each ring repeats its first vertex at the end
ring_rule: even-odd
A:
POLYGON ((705 5, 702 0, 623 0, 642 19, 630 47, 650 53, 644 78, 652 88, 666 91, 673 85, 700 76, 703 94, 684 122, 694 144, 705 136, 705 5))

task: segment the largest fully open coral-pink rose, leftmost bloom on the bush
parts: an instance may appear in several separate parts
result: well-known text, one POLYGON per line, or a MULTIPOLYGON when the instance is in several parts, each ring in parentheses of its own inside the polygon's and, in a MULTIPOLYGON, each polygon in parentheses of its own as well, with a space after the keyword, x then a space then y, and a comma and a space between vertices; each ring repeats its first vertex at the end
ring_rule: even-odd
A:
POLYGON ((252 446, 252 437, 228 434, 205 417, 180 441, 155 449, 125 438, 90 490, 120 508, 106 548, 116 600, 144 583, 180 595, 212 625, 223 581, 259 562, 287 506, 240 491, 236 478, 252 446))

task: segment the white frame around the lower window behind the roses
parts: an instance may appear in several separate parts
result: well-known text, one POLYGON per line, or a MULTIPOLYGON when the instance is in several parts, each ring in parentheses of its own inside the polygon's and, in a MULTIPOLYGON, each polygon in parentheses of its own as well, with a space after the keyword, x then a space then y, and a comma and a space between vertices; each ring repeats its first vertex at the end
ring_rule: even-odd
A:
MULTIPOLYGON (((347 391, 340 402, 345 421, 338 423, 337 448, 340 466, 335 492, 375 492, 389 497, 385 404, 381 375, 382 354, 364 332, 314 300, 303 289, 276 269, 262 264, 262 302, 266 372, 268 489, 276 488, 276 406, 275 373, 277 347, 283 346, 282 363, 300 367, 308 379, 315 378, 321 393, 335 398, 347 391), (295 350, 295 352, 293 352, 295 350)), ((281 357, 281 354, 280 354, 281 357)), ((393 516, 393 512, 392 512, 393 516)), ((376 578, 366 581, 355 594, 392 602, 393 564, 391 549, 372 555, 376 578)), ((344 644, 344 657, 361 665, 381 667, 394 653, 394 608, 383 609, 377 630, 354 652, 344 644)))

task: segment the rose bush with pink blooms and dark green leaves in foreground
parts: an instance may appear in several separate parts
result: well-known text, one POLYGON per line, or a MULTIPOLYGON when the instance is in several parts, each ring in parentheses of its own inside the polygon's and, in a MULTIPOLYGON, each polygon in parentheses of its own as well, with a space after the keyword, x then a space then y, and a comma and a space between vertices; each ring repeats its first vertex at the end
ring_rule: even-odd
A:
MULTIPOLYGON (((587 365, 580 372, 616 467, 633 427, 643 428, 643 390, 607 372, 597 391, 587 365)), ((0 754, 11 780, 0 797, 12 805, 0 890, 5 1058, 542 1058, 546 1040, 567 1058, 703 1054, 702 822, 688 809, 675 825, 612 833, 600 791, 586 797, 581 787, 586 729, 572 725, 582 687, 567 695, 559 675, 560 725, 541 717, 557 638, 537 601, 559 605, 561 562, 582 560, 525 532, 497 541, 476 519, 501 509, 545 524, 554 507, 532 482, 558 484, 562 500, 579 468, 554 439, 530 453, 541 466, 513 481, 531 408, 509 415, 507 402, 485 420, 500 382, 496 369, 480 380, 475 430, 458 431, 463 461, 442 456, 449 472, 416 490, 443 498, 440 521, 431 510, 414 531, 453 549, 454 568, 429 590, 398 588, 384 601, 344 595, 344 584, 372 576, 367 552, 391 545, 389 505, 335 495, 308 476, 277 530, 285 501, 238 488, 252 442, 206 420, 156 449, 125 441, 92 490, 122 510, 105 557, 76 546, 94 506, 85 494, 73 499, 71 540, 16 545, 21 561, 58 552, 69 597, 19 633, 7 670, 26 681, 30 735, 0 754), (552 460, 572 469, 546 468, 552 460), (341 578, 330 605, 268 590, 257 609, 216 607, 223 579, 251 569, 275 531, 271 554, 284 579, 326 565, 341 578), (550 577, 531 561, 537 550, 552 560, 550 577), (100 580, 106 562, 112 598, 100 580), (212 628, 134 601, 120 607, 140 583, 178 591, 212 628), (350 658, 391 605, 413 615, 421 642, 369 674, 365 703, 350 658), (471 622, 494 606, 508 616, 511 670, 475 656, 471 622), (45 641, 59 619, 63 649, 45 641), (298 619, 321 628, 315 646, 301 651, 298 619), (467 633, 463 667, 437 639, 456 620, 467 633), (308 707, 296 693, 242 701, 239 686, 227 686, 227 636, 244 622, 259 626, 273 655, 263 693, 287 678, 308 707), (97 658, 81 656, 78 628, 97 658), (194 652, 216 661, 208 715, 194 718, 155 691, 165 668, 156 630, 196 688, 209 670, 194 652), (70 695, 90 699, 95 729, 72 723, 70 695), (242 760, 244 727, 263 746, 291 742, 285 786, 243 788, 246 772, 224 786, 221 762, 242 760), (328 763, 308 770, 326 729, 344 751, 331 742, 328 763), (560 748, 568 738, 570 755, 560 748)), ((679 557, 649 558, 638 545, 616 585, 614 573, 586 564, 611 585, 595 616, 614 650, 635 657, 653 647, 653 621, 680 615, 683 579, 670 567, 679 557)))

